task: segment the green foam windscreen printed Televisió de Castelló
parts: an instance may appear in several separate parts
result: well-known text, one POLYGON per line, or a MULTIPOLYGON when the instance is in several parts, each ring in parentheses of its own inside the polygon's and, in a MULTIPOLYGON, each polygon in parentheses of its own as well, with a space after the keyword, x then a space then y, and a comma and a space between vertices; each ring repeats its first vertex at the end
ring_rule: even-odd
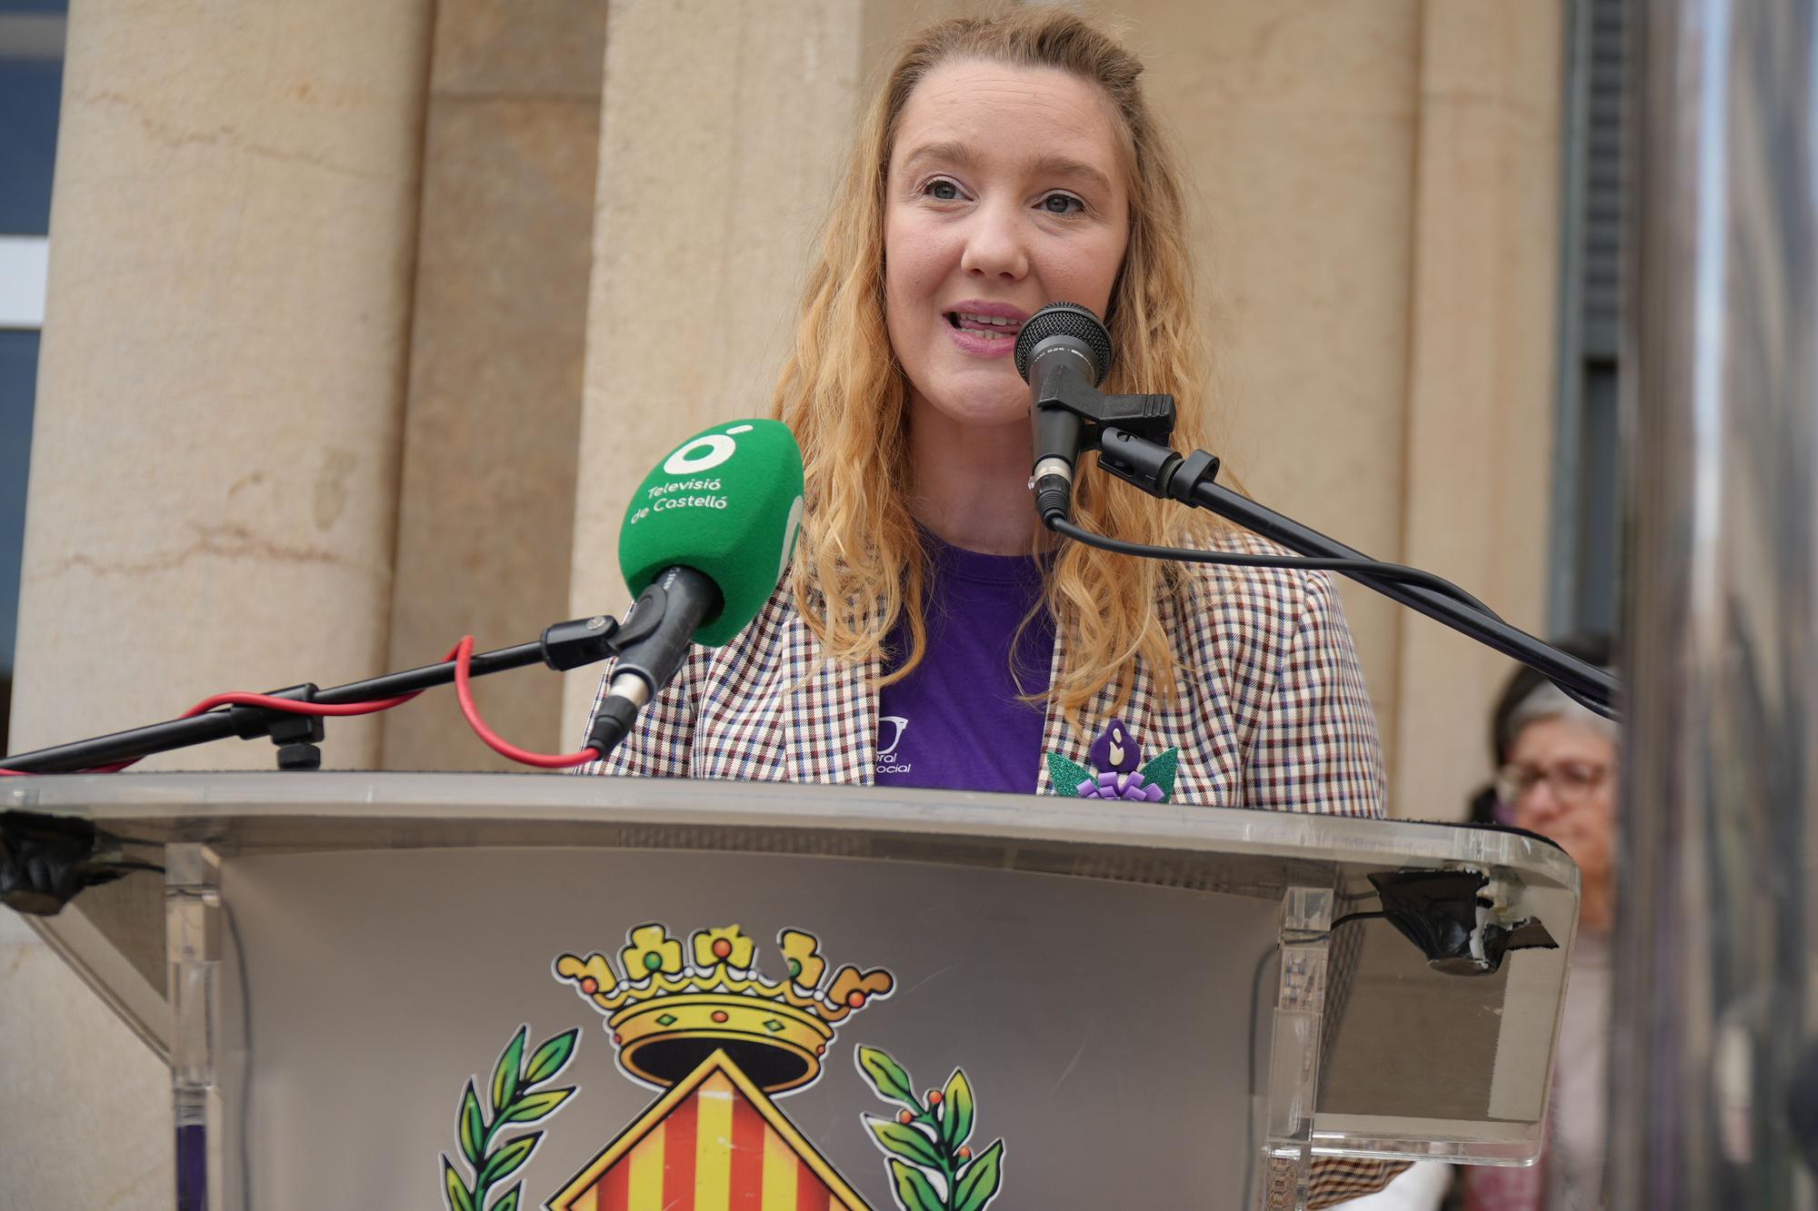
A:
POLYGON ((794 556, 802 447, 776 420, 729 420, 656 465, 625 509, 618 569, 636 598, 664 569, 693 567, 725 598, 694 631, 718 647, 745 629, 794 556))

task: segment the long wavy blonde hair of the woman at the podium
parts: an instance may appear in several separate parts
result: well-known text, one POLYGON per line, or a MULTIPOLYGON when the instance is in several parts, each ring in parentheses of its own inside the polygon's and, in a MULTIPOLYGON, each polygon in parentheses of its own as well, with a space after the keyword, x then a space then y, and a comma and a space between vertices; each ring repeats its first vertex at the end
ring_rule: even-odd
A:
MULTIPOLYGON (((1187 244, 1180 156, 1144 102, 1142 62, 1107 33, 1058 7, 958 16, 913 36, 871 102, 809 269, 802 320, 773 402, 802 444, 807 509, 794 595, 822 651, 864 664, 907 616, 907 675, 927 651, 922 540, 909 515, 907 382, 884 324, 884 191, 904 105, 953 60, 1058 67, 1098 85, 1118 116, 1129 176, 1129 244, 1105 322, 1118 356, 1105 391, 1173 391, 1176 445, 1205 447, 1205 355, 1187 244)), ((1144 496, 1082 462, 1074 520, 1131 542, 1191 542, 1220 527, 1174 502, 1144 496)), ((1165 695, 1176 660, 1156 618, 1178 567, 1065 544, 1047 606, 1069 653, 1049 696, 1071 718, 1105 687, 1122 707, 1140 658, 1165 695)))

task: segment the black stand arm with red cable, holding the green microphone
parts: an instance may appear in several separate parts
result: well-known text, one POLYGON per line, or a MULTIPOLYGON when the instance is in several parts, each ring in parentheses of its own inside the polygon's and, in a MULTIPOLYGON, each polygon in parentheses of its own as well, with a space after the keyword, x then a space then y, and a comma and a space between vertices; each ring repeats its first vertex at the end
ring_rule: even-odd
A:
MULTIPOLYGON (((662 609, 634 609, 627 616, 625 626, 620 626, 607 615, 558 622, 547 627, 536 642, 474 653, 467 671, 471 676, 485 676, 487 673, 504 673, 505 669, 520 669, 542 662, 564 673, 618 655, 620 647, 644 638, 660 616, 662 609)), ((447 686, 453 680, 454 662, 444 660, 329 689, 318 689, 313 682, 305 682, 302 686, 289 686, 287 689, 275 689, 269 696, 324 706, 351 706, 420 693, 435 686, 447 686)), ((320 715, 296 715, 258 706, 227 706, 189 718, 173 718, 164 724, 75 740, 16 756, 0 756, 0 767, 20 773, 71 773, 138 760, 153 753, 187 749, 229 736, 240 736, 242 740, 269 736, 278 746, 280 769, 320 769, 322 751, 316 747, 316 742, 324 735, 320 715)))

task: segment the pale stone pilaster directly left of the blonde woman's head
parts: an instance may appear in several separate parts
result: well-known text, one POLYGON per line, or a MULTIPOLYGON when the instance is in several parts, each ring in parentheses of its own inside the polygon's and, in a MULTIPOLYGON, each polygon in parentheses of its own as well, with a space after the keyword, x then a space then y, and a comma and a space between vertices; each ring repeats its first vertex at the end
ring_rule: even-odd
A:
MULTIPOLYGON (((864 7, 627 0, 605 47, 574 615, 629 604, 618 525, 680 438, 769 409, 856 105, 864 7), (685 82, 685 85, 684 85, 685 82)), ((594 680, 567 678, 567 746, 594 680)))

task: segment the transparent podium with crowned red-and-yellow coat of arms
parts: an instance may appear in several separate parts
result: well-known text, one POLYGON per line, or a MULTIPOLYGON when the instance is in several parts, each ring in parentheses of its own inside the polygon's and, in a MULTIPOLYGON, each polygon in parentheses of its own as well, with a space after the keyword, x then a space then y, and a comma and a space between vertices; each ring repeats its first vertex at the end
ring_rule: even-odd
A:
POLYGON ((1169 804, 273 773, 0 809, 15 906, 87 844, 33 920, 167 1058, 182 1211, 1294 1207, 1336 1156, 1525 1164, 1578 902, 1522 833, 1169 804))

